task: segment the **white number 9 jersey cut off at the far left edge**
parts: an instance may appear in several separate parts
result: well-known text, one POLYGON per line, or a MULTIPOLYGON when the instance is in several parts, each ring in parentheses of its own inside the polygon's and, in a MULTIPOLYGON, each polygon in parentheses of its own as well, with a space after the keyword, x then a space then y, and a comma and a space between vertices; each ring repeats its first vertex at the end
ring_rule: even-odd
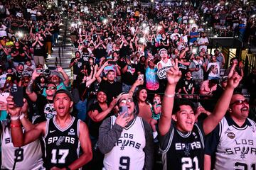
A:
POLYGON ((11 128, 6 128, 8 121, 1 121, 1 169, 13 169, 15 159, 17 170, 41 169, 43 159, 40 141, 36 140, 23 147, 14 147, 11 142, 11 128))

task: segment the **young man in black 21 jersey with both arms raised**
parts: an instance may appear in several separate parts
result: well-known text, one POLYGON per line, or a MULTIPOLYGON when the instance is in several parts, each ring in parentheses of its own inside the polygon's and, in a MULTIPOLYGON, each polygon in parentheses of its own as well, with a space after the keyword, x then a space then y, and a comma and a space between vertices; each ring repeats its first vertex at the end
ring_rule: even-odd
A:
POLYGON ((242 77, 234 72, 228 75, 228 85, 215 109, 202 123, 195 123, 191 103, 179 102, 174 106, 175 88, 181 72, 178 61, 167 72, 167 86, 159 120, 160 147, 164 169, 203 169, 204 137, 218 125, 228 110, 233 91, 242 77), (173 121, 171 121, 173 120, 173 121))

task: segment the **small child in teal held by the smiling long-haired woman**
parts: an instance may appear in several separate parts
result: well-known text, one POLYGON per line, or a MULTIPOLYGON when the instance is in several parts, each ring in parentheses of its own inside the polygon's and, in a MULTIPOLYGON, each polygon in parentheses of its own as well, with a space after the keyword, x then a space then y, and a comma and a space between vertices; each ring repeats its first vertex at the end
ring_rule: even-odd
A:
POLYGON ((150 125, 153 130, 153 137, 154 139, 158 135, 156 131, 156 124, 160 118, 161 115, 161 96, 159 94, 154 94, 153 98, 154 105, 151 107, 152 117, 150 120, 150 125))

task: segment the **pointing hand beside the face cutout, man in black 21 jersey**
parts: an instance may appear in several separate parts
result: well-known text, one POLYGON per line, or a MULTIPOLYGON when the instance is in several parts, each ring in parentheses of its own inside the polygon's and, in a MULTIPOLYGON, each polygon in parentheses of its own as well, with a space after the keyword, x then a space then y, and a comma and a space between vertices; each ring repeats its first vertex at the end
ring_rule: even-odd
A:
POLYGON ((167 72, 167 81, 169 85, 176 85, 181 79, 181 71, 178 69, 178 59, 175 59, 174 67, 171 67, 167 72))

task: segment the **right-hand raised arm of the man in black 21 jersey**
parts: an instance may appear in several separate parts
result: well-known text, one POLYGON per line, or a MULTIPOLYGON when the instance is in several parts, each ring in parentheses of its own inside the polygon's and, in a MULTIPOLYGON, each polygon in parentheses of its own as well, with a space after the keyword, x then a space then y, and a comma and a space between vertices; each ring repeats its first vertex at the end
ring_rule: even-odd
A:
POLYGON ((228 111, 228 106, 230 104, 233 91, 238 86, 242 77, 235 72, 235 66, 230 69, 230 73, 228 74, 228 85, 223 91, 223 94, 220 96, 213 113, 210 114, 204 121, 203 121, 203 130, 206 135, 208 135, 213 129, 220 123, 220 120, 224 117, 226 111, 228 111))

